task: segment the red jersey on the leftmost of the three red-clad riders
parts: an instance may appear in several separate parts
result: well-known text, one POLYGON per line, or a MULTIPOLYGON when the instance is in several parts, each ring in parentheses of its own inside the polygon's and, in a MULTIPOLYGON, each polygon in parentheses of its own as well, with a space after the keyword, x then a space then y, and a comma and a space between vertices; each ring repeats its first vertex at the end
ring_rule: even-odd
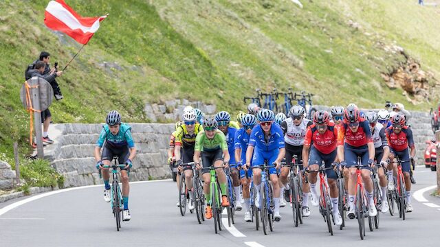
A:
POLYGON ((316 124, 312 124, 307 128, 305 133, 304 145, 310 146, 313 143, 316 150, 322 154, 330 154, 336 150, 338 143, 338 129, 334 123, 329 123, 324 134, 320 134, 316 128, 316 124))

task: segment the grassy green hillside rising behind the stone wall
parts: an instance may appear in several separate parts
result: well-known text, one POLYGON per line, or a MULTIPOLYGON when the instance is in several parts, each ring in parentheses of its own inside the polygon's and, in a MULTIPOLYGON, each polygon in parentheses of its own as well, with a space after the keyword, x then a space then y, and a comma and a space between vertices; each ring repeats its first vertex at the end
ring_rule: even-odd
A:
MULTIPOLYGON (((40 51, 63 67, 80 45, 43 23, 48 0, 0 1, 0 153, 26 152, 29 113, 19 99, 23 72, 40 51)), ((58 79, 65 99, 54 122, 148 121, 144 102, 197 99, 238 110, 243 96, 289 86, 315 93, 315 104, 406 103, 380 73, 406 58, 440 75, 440 14, 412 1, 67 0, 83 16, 109 13, 100 30, 58 79), (353 28, 349 21, 362 25, 353 28)), ((433 82, 432 82, 433 83, 433 82)), ((422 102, 412 109, 428 109, 422 102)))

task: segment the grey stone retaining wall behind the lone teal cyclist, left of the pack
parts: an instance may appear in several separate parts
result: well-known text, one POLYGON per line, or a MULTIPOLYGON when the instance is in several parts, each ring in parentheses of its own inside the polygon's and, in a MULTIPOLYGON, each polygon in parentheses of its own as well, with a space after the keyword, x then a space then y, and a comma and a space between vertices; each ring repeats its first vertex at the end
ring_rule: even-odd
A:
MULTIPOLYGON (((170 178, 166 165, 168 143, 174 124, 129 124, 137 149, 130 180, 170 178)), ((102 124, 54 124, 50 137, 55 143, 45 148, 45 158, 65 176, 65 187, 102 183, 94 159, 95 143, 102 124)))

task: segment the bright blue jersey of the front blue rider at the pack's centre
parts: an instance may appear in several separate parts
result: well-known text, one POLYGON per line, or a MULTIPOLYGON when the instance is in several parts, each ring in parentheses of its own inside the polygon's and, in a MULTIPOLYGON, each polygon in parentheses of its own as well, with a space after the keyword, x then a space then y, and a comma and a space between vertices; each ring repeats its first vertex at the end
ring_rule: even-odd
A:
POLYGON ((256 125, 250 134, 249 145, 265 152, 284 148, 283 130, 281 130, 278 124, 272 124, 270 126, 270 135, 266 138, 263 128, 260 125, 256 125))

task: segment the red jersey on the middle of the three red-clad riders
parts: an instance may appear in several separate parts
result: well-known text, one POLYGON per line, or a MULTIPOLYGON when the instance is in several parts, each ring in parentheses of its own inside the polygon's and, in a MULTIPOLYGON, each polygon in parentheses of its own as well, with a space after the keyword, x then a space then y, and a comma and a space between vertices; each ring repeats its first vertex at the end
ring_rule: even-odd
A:
POLYGON ((344 142, 355 148, 363 148, 366 143, 372 143, 369 121, 361 117, 356 132, 351 131, 349 125, 344 122, 338 132, 338 145, 344 145, 344 142))

